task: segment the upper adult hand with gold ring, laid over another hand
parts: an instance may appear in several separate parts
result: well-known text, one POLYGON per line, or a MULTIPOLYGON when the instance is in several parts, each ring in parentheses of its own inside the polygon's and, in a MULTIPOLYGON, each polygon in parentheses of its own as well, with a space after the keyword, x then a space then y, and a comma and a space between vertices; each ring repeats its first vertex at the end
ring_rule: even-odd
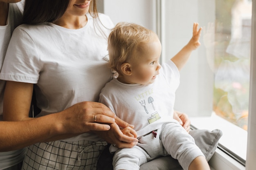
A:
POLYGON ((81 102, 56 114, 63 117, 63 128, 70 133, 106 131, 116 118, 115 113, 98 102, 81 102))

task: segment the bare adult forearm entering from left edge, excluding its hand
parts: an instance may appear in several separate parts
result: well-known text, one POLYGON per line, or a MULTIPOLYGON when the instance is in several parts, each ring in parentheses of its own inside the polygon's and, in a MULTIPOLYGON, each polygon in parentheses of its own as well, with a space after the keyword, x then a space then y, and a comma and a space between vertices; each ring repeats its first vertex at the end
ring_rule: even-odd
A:
POLYGON ((65 118, 51 114, 25 121, 0 121, 0 152, 17 150, 65 132, 65 118))

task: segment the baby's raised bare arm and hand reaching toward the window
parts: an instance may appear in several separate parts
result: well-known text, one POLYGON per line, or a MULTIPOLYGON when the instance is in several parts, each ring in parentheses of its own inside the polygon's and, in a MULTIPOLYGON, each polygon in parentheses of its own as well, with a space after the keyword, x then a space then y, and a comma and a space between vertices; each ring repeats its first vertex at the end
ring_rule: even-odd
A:
POLYGON ((201 44, 199 42, 202 27, 198 29, 198 23, 193 25, 193 36, 188 44, 186 44, 179 53, 177 53, 171 60, 177 66, 179 70, 186 64, 187 60, 191 55, 191 52, 197 49, 201 44))

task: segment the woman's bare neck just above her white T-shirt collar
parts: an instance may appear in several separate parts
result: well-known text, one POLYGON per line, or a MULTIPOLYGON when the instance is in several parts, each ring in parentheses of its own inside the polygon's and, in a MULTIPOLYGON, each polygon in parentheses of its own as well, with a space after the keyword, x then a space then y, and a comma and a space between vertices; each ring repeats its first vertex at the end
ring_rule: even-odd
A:
POLYGON ((53 24, 62 26, 67 29, 80 29, 87 24, 87 16, 65 16, 53 22, 53 24))

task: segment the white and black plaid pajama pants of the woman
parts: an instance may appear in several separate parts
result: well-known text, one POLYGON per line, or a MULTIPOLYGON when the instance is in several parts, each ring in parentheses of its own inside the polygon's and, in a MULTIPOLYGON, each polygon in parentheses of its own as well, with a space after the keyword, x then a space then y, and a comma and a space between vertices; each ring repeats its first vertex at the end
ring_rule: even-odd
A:
POLYGON ((52 141, 28 147, 22 170, 97 170, 105 141, 52 141))

